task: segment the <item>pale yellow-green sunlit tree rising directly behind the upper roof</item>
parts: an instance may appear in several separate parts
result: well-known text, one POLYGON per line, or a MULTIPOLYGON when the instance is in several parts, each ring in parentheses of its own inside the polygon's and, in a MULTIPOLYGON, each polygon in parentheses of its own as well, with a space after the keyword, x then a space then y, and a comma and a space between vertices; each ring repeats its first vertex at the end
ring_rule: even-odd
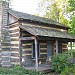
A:
POLYGON ((41 0, 38 8, 44 17, 68 25, 65 17, 70 9, 68 0, 41 0))

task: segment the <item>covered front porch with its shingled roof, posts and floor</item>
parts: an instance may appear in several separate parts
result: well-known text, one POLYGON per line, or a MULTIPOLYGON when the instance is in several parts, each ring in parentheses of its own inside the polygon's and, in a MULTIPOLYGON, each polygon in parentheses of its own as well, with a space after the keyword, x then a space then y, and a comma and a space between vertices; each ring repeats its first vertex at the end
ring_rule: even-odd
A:
MULTIPOLYGON (((40 28, 32 27, 26 28, 26 26, 20 27, 23 29, 29 36, 21 36, 21 49, 20 49, 20 62, 24 61, 23 65, 26 69, 29 70, 36 70, 36 71, 43 71, 51 69, 51 56, 54 54, 62 53, 62 44, 68 44, 71 42, 71 56, 72 56, 72 42, 75 41, 75 37, 59 31, 51 31, 51 30, 41 30, 40 28), (39 32, 40 31, 40 32, 39 32), (43 32, 42 32, 43 31, 43 32), (37 34, 37 35, 36 35, 37 34), (23 44, 23 43, 26 43, 23 44), (31 52, 30 48, 29 51, 24 51, 25 56, 22 56, 23 49, 22 47, 27 46, 27 44, 31 44, 31 52), (43 45, 42 45, 43 44, 43 45), (42 48, 41 48, 42 47, 42 48), (41 53, 42 54, 41 54, 41 53), (29 53, 29 55, 27 55, 29 53)), ((26 47, 25 47, 26 48, 26 47)), ((27 49, 28 50, 28 49, 27 49)), ((67 50, 66 50, 67 51, 67 50)))

